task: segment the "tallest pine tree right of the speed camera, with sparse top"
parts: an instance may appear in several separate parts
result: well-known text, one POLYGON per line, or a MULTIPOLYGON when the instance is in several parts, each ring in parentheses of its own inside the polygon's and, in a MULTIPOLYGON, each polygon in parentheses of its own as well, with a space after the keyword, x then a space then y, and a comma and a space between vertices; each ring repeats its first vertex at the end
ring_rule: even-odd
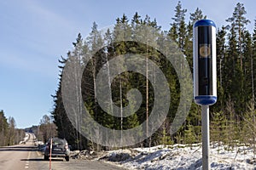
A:
POLYGON ((232 17, 230 17, 228 22, 230 25, 228 28, 230 29, 229 33, 229 47, 228 47, 228 59, 225 59, 225 81, 227 88, 227 95, 230 94, 231 99, 235 102, 236 106, 236 114, 237 116, 241 115, 243 111, 245 111, 245 104, 247 103, 246 99, 246 70, 250 70, 247 68, 247 65, 244 64, 246 58, 248 56, 244 55, 245 48, 243 48, 243 39, 246 35, 246 26, 250 22, 246 19, 245 14, 247 14, 242 3, 237 3, 236 8, 232 17), (231 67, 231 68, 230 68, 231 67), (230 71, 228 71, 230 70, 230 71))

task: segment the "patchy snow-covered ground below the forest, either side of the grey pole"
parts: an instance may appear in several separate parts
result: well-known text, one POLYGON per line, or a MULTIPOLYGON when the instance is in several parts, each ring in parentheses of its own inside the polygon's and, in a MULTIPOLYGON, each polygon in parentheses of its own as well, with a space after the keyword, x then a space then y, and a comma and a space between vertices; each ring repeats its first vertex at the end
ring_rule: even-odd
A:
MULTIPOLYGON (((127 169, 177 169, 200 170, 201 144, 158 145, 151 148, 136 148, 108 151, 102 158, 127 169)), ((246 146, 229 148, 221 144, 211 145, 211 169, 254 169, 256 159, 253 149, 246 146)))

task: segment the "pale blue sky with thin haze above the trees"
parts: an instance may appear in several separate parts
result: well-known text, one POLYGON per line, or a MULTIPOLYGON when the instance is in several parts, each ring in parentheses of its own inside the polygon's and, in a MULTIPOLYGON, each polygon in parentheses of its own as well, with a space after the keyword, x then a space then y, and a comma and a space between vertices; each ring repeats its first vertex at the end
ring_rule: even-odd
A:
MULTIPOLYGON (((60 56, 67 57, 79 32, 87 37, 94 21, 98 29, 115 24, 123 14, 138 12, 169 30, 177 0, 8 0, 0 1, 0 111, 15 118, 16 127, 38 125, 53 110, 60 56)), ((236 3, 247 10, 252 33, 254 0, 181 0, 189 14, 198 7, 217 27, 225 26, 236 3)))

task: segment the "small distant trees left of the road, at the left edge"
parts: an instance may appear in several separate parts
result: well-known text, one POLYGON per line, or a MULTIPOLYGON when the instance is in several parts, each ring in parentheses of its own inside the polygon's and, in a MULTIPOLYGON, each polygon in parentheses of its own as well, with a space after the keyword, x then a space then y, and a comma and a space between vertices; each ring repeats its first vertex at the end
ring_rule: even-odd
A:
POLYGON ((24 137, 24 130, 16 128, 15 118, 10 116, 7 119, 0 111, 0 146, 19 144, 24 137))

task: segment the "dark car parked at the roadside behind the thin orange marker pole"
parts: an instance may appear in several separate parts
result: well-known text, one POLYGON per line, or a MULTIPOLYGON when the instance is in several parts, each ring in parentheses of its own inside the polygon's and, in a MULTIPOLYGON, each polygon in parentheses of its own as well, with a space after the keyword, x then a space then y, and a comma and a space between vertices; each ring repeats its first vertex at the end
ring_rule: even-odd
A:
POLYGON ((44 160, 49 161, 51 157, 64 157, 66 161, 69 161, 70 149, 66 139, 53 138, 49 139, 44 149, 44 160), (52 149, 50 153, 50 145, 52 141, 52 149))

